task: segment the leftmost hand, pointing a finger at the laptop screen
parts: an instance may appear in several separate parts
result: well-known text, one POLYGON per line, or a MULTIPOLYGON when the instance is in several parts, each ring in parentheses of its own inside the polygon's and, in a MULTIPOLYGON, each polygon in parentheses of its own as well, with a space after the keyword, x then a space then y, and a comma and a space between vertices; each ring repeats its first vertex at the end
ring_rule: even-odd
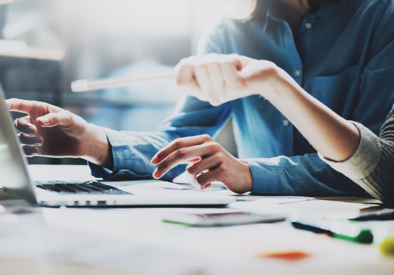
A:
MULTIPOLYGON (((102 144, 99 139, 104 141, 100 127, 43 102, 13 98, 6 104, 10 111, 28 114, 14 122, 26 156, 83 157, 105 162, 98 152, 102 144)), ((108 143, 106 136, 105 141, 108 143)))

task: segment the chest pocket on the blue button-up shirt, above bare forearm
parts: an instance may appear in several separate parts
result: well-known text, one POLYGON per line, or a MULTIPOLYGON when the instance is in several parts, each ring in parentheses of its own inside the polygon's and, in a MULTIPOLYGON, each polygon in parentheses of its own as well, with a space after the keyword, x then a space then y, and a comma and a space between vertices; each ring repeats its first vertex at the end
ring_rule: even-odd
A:
POLYGON ((349 119, 359 90, 361 66, 351 66, 339 75, 317 76, 312 82, 311 95, 340 116, 349 119))

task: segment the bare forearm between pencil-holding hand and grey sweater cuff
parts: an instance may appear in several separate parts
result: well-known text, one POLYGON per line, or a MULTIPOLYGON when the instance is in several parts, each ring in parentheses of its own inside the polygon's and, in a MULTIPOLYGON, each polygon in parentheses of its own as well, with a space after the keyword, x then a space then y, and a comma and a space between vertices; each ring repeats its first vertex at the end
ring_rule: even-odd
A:
POLYGON ((264 96, 320 154, 334 161, 343 161, 355 152, 360 134, 353 123, 309 95, 281 69, 277 83, 277 90, 264 96))

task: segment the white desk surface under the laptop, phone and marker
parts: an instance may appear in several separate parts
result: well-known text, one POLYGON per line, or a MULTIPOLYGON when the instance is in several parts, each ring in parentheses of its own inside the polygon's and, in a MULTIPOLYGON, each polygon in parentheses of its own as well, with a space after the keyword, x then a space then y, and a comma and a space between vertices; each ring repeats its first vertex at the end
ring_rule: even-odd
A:
MULTIPOLYGON (((34 180, 91 178, 85 166, 33 165, 30 171, 34 180)), ((325 203, 318 202, 291 204, 294 209, 320 207, 327 211, 322 209, 325 203)), ((328 208, 335 204, 327 203, 328 208)), ((39 210, 36 214, 0 214, 2 275, 393 274, 394 271, 394 259, 381 256, 377 248, 388 230, 394 228, 391 221, 368 223, 374 228, 377 242, 361 245, 296 230, 284 222, 193 228, 161 221, 164 214, 201 209, 39 210), (303 251, 310 257, 293 262, 260 257, 283 251, 303 251)))

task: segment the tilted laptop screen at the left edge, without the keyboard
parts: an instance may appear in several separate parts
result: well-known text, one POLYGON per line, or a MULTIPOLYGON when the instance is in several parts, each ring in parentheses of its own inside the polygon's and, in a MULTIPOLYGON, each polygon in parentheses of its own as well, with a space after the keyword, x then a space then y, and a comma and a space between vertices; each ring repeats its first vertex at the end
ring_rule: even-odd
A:
POLYGON ((22 156, 4 93, 0 84, 0 186, 23 198, 26 202, 37 204, 32 183, 22 156))

